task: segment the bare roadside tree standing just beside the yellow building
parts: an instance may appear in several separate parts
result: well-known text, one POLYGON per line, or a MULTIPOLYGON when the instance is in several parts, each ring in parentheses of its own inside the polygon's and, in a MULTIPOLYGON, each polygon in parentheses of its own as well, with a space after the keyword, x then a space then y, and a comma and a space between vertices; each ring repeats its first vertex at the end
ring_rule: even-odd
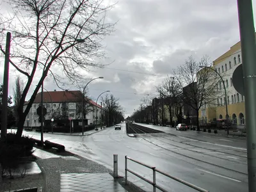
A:
POLYGON ((216 84, 218 77, 216 73, 209 68, 211 62, 204 56, 200 61, 190 56, 188 60, 175 70, 175 76, 179 83, 180 90, 183 90, 182 101, 196 111, 196 125, 199 127, 199 110, 206 104, 216 102, 218 94, 216 84), (205 68, 201 68, 205 66, 205 68))

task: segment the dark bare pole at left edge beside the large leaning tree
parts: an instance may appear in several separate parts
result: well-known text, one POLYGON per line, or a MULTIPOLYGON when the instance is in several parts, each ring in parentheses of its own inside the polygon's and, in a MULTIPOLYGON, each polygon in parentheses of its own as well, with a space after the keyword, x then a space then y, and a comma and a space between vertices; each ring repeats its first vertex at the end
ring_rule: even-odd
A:
POLYGON ((3 97, 2 97, 2 130, 1 138, 6 138, 7 134, 7 115, 8 115, 8 84, 9 84, 9 60, 10 60, 10 44, 11 33, 6 36, 5 58, 4 58, 4 81, 3 81, 3 97))

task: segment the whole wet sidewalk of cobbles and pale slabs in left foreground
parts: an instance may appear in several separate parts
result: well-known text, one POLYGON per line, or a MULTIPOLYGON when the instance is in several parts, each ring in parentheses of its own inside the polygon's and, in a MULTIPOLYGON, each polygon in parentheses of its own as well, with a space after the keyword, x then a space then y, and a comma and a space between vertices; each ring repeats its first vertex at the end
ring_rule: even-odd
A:
MULTIPOLYGON (((113 178, 113 171, 105 166, 69 152, 50 153, 35 148, 33 156, 37 158, 42 173, 27 174, 26 177, 12 180, 3 191, 38 187, 39 191, 138 191, 143 192, 131 182, 124 184, 124 178, 113 178), (7 189, 7 190, 6 190, 7 189)), ((2 190, 1 190, 2 191, 2 190)))

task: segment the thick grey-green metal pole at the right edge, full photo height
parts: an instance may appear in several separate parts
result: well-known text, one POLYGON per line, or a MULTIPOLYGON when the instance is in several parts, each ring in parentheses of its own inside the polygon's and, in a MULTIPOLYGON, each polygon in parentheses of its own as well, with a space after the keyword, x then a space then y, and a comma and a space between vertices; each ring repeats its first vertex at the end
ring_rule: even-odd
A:
POLYGON ((252 0, 237 0, 241 51, 243 56, 244 98, 249 192, 256 191, 256 45, 252 0))

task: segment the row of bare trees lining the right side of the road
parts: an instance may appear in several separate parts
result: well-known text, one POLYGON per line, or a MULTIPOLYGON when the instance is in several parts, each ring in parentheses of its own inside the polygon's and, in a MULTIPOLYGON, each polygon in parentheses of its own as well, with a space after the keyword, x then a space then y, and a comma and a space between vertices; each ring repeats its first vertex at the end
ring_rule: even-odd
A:
POLYGON ((140 107, 131 118, 147 124, 175 125, 182 123, 184 116, 191 116, 189 113, 192 111, 199 129, 200 109, 216 106, 217 97, 223 95, 217 88, 220 82, 217 75, 207 56, 200 61, 189 56, 184 64, 173 69, 173 76, 167 76, 155 87, 156 96, 148 95, 141 99, 140 107))

